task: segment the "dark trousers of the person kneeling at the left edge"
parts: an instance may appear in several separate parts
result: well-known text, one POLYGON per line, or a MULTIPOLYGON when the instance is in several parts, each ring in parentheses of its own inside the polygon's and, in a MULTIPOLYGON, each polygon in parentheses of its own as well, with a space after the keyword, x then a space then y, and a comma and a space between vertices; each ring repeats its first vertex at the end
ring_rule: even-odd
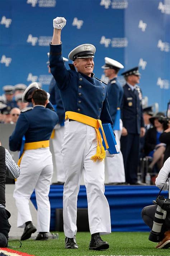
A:
POLYGON ((5 208, 0 208, 0 247, 8 246, 8 233, 11 225, 9 224, 10 212, 5 208))

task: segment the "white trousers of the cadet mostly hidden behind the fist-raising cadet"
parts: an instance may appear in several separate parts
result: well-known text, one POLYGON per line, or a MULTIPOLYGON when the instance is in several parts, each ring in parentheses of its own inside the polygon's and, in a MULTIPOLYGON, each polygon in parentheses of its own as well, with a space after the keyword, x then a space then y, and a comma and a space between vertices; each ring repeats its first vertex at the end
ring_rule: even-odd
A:
POLYGON ((63 170, 62 155, 61 155, 61 145, 63 142, 64 126, 60 126, 55 130, 55 137, 52 139, 53 150, 55 155, 56 163, 56 179, 58 182, 65 182, 65 174, 63 170))

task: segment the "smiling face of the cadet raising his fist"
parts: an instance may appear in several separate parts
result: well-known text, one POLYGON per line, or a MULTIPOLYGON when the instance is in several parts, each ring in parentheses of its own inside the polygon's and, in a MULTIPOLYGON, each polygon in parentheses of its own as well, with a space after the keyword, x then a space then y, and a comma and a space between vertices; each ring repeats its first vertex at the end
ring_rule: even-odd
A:
POLYGON ((80 58, 74 61, 74 66, 77 68, 77 72, 90 77, 94 69, 94 61, 93 58, 80 58))

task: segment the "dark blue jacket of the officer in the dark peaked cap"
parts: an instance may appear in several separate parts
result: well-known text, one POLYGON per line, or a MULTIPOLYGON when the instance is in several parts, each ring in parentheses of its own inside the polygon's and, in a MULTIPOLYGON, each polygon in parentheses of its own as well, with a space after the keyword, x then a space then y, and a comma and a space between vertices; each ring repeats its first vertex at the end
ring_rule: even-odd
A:
POLYGON ((140 134, 140 128, 144 127, 142 110, 142 93, 139 86, 134 91, 126 83, 123 86, 124 94, 121 104, 121 119, 123 127, 128 133, 140 134))

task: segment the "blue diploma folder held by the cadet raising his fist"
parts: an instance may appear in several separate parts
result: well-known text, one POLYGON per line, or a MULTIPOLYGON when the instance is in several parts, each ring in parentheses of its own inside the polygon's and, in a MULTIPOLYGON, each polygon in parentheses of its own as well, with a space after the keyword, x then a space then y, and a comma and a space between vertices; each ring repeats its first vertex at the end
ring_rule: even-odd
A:
MULTIPOLYGON (((104 130, 107 142, 108 142, 108 146, 109 146, 108 151, 109 151, 109 153, 110 154, 119 154, 119 150, 118 150, 118 147, 117 147, 117 143, 116 143, 116 140, 115 140, 115 137, 114 137, 114 133, 113 133, 111 124, 102 124, 102 126, 103 126, 103 130, 104 130)), ((100 130, 100 133, 101 133, 101 137, 103 139, 103 134, 101 132, 101 129, 99 129, 99 130, 100 130)), ((104 139, 103 139, 103 146, 106 150, 107 148, 106 148, 106 145, 104 143, 104 139)))

